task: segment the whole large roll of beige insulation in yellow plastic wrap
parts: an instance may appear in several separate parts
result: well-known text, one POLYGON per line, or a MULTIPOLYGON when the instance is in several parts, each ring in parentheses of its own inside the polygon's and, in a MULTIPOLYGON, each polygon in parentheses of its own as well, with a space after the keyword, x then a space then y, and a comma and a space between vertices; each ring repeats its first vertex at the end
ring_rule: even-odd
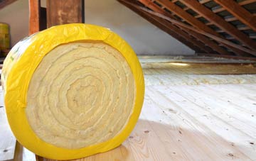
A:
POLYGON ((136 54, 100 26, 68 24, 31 35, 9 52, 2 73, 11 130, 43 157, 70 160, 116 148, 142 109, 136 54))

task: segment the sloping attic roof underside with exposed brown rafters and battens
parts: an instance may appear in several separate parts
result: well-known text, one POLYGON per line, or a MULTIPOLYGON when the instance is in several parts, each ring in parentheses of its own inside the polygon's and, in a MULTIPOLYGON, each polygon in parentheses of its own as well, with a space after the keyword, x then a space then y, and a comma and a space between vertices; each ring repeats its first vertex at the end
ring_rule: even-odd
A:
POLYGON ((256 56, 256 0, 117 0, 203 55, 256 56))

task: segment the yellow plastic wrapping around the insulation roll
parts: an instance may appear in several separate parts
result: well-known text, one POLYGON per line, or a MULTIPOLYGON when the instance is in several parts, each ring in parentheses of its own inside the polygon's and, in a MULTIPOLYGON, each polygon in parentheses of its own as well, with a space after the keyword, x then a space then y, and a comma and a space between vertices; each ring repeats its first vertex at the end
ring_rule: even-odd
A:
POLYGON ((11 49, 4 61, 1 82, 9 125, 18 142, 37 155, 57 160, 86 157, 106 152, 122 144, 137 123, 144 100, 142 67, 132 48, 107 28, 80 23, 55 26, 21 40, 11 49), (128 123, 114 138, 85 148, 58 148, 38 138, 28 123, 25 113, 28 85, 36 67, 50 50, 60 44, 79 40, 102 41, 122 53, 134 76, 136 98, 128 123))

